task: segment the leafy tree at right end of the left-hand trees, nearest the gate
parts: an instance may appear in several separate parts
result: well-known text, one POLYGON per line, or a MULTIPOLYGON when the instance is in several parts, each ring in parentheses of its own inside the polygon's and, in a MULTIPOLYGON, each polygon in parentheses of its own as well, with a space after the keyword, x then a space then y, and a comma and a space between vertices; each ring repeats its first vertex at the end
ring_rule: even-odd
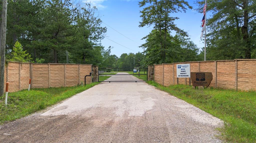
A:
POLYGON ((106 27, 100 26, 101 22, 95 6, 85 4, 79 8, 73 47, 76 61, 79 61, 77 63, 94 63, 94 60, 101 57, 103 47, 100 46, 100 41, 106 33, 106 27))

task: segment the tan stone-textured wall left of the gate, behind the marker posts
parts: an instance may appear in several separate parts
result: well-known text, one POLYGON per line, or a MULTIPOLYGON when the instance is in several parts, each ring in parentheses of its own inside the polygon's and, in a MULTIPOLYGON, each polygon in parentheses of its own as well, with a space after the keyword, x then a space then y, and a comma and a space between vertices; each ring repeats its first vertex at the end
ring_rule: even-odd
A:
MULTIPOLYGON (((8 62, 5 65, 4 82, 9 82, 9 92, 31 88, 68 87, 84 84, 84 76, 90 75, 89 64, 35 64, 8 62)), ((86 77, 86 84, 92 76, 86 77)))

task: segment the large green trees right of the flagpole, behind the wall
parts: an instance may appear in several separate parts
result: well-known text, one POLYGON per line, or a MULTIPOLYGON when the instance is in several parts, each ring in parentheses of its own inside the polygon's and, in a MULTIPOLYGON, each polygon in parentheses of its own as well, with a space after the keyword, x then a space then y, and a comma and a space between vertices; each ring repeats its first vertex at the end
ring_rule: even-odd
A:
MULTIPOLYGON (((205 1, 196 2, 202 13, 205 1)), ((207 60, 256 58, 255 7, 255 0, 207 1, 207 60)))

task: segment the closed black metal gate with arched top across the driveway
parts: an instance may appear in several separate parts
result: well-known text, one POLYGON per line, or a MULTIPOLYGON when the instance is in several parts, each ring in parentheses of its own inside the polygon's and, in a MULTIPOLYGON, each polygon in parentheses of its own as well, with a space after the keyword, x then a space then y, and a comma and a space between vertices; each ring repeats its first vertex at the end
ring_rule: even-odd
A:
POLYGON ((130 65, 113 65, 99 67, 99 82, 145 82, 148 79, 147 67, 134 67, 130 65))

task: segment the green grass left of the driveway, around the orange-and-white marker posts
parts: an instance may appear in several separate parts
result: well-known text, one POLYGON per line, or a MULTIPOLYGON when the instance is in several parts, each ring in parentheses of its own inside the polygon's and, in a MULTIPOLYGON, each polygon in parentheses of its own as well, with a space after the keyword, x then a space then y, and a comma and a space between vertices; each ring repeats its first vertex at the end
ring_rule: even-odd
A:
POLYGON ((45 109, 63 99, 87 90, 99 82, 86 86, 41 88, 23 90, 8 94, 7 106, 4 105, 5 96, 0 97, 0 124, 25 117, 31 113, 45 109))

